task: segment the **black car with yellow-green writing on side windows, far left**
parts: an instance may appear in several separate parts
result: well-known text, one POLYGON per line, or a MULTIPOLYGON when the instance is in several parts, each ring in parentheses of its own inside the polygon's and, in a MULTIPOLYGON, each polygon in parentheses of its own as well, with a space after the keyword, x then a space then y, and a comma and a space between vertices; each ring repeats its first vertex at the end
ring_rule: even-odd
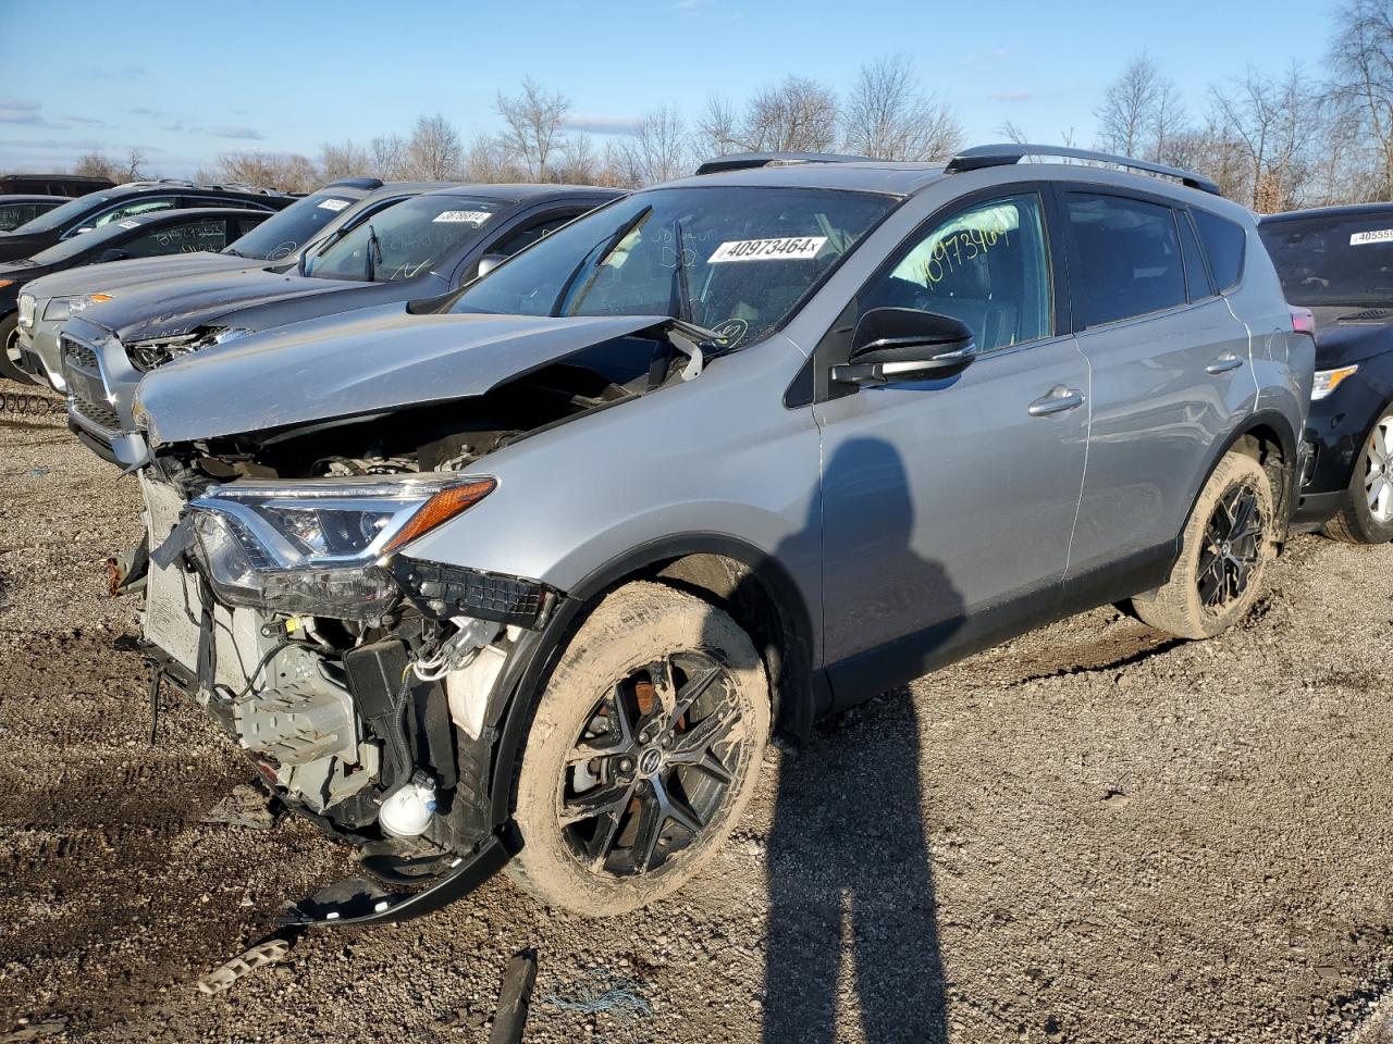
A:
POLYGON ((0 376, 28 380, 18 366, 18 329, 33 323, 33 298, 20 308, 29 280, 65 269, 130 258, 155 258, 221 251, 272 217, 269 210, 189 207, 123 217, 91 232, 74 235, 32 258, 0 263, 0 376))

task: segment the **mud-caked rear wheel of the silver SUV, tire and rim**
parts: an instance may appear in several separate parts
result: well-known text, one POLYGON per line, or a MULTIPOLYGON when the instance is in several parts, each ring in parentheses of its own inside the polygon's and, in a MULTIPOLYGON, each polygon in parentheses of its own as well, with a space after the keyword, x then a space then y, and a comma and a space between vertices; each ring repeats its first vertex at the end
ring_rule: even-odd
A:
POLYGON ((1252 607, 1276 536, 1272 480, 1251 457, 1229 452, 1190 512, 1170 579, 1134 597, 1133 611, 1177 638, 1213 638, 1252 607))

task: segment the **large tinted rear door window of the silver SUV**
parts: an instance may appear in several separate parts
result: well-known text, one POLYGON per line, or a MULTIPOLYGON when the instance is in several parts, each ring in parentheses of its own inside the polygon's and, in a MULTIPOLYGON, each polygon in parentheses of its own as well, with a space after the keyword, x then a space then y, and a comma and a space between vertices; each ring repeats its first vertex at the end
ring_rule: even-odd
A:
POLYGON ((1068 193, 1074 231, 1070 290, 1075 320, 1116 323, 1185 303, 1174 212, 1160 203, 1068 193))

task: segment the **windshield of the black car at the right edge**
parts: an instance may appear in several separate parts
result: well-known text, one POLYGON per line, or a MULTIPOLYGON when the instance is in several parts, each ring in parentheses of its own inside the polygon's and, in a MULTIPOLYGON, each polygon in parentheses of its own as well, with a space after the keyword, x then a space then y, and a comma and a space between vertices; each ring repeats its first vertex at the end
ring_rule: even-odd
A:
POLYGON ((1258 234, 1293 305, 1393 302, 1393 214, 1263 221, 1258 234))

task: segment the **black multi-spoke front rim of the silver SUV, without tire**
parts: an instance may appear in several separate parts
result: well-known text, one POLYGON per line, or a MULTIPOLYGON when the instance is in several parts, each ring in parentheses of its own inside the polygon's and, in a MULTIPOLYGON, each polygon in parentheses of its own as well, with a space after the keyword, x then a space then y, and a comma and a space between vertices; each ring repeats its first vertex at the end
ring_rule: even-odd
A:
POLYGON ((747 742, 726 668, 676 653, 624 678, 592 709, 566 759, 557 823, 592 873, 652 873, 726 803, 747 742))

